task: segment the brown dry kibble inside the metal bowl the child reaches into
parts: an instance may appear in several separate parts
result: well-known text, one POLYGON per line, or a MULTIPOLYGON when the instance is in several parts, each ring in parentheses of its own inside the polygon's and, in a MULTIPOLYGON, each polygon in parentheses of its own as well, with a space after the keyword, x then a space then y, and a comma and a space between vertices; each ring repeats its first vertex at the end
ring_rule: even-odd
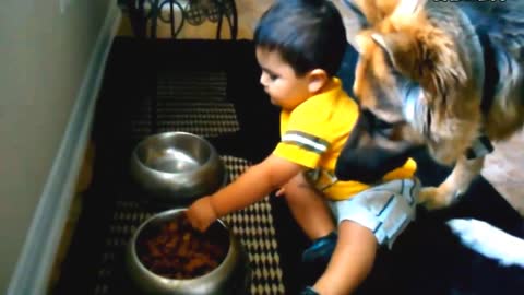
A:
POLYGON ((227 255, 228 245, 223 241, 224 238, 221 243, 207 232, 195 231, 186 214, 180 214, 158 231, 141 235, 136 249, 140 260, 152 272, 183 280, 214 270, 227 255))

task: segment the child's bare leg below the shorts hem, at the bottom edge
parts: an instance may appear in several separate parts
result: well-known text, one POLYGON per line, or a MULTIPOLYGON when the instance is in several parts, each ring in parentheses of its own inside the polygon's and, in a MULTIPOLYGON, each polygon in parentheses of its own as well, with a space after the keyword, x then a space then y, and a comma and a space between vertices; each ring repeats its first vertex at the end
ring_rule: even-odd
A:
POLYGON ((335 251, 313 288, 319 294, 350 294, 371 271, 377 249, 377 238, 369 228, 343 221, 335 251))

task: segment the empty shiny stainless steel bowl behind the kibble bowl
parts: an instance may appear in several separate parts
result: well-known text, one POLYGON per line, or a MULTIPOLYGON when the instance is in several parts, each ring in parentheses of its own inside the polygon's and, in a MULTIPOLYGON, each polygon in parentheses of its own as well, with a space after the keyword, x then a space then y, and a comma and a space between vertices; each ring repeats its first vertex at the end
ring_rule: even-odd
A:
POLYGON ((131 156, 131 176, 154 201, 187 204, 210 194, 226 180, 216 150, 187 132, 166 132, 141 141, 131 156))

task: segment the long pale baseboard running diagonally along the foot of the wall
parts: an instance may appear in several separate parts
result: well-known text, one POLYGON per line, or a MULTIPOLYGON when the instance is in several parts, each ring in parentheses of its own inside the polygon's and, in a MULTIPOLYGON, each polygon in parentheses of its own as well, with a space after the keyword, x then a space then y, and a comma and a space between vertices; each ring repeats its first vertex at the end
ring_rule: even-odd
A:
POLYGON ((48 287, 55 256, 68 221, 76 178, 87 146, 106 60, 120 19, 121 13, 118 7, 110 4, 79 90, 64 137, 52 163, 11 278, 8 295, 43 294, 48 287))

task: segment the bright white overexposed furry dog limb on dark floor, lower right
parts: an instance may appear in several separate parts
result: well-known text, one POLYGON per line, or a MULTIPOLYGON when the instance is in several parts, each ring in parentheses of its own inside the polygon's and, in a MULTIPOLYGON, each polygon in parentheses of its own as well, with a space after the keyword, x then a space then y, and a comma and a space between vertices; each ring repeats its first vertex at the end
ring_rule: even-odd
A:
POLYGON ((453 219, 446 223, 466 247, 502 266, 524 268, 524 239, 474 219, 453 219))

